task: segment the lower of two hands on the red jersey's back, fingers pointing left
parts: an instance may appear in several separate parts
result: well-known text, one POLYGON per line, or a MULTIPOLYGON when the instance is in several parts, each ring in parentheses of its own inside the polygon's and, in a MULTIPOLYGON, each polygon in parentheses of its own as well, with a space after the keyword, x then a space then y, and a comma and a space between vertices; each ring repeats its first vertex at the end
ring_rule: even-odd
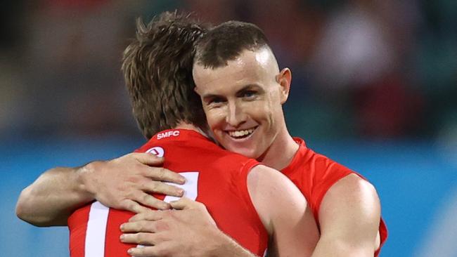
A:
POLYGON ((124 243, 144 247, 129 249, 131 256, 208 256, 226 237, 204 204, 181 198, 170 203, 174 210, 148 211, 121 225, 124 243))

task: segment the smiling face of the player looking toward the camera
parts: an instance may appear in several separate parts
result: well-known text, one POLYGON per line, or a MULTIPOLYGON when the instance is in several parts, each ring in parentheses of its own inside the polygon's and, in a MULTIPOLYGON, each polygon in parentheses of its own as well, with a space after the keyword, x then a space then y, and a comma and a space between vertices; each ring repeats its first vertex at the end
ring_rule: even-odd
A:
POLYGON ((288 98, 290 70, 279 72, 269 48, 245 50, 215 69, 195 64, 193 78, 208 125, 227 150, 262 160, 288 135, 282 104, 288 98))

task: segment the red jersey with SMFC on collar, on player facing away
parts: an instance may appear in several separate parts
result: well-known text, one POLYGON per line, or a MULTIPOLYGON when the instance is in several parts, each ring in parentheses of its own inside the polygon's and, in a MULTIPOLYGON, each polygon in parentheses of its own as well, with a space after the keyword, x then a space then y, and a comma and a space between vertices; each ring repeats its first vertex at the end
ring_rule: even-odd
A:
MULTIPOLYGON (((198 171, 196 200, 205 204, 219 229, 252 253, 264 254, 268 234, 252 205, 246 185, 247 173, 259 164, 257 161, 222 150, 200 133, 183 129, 157 133, 136 152, 146 152, 152 147, 165 150, 165 168, 176 172, 198 171)), ((76 211, 69 219, 70 242, 73 247, 83 250, 85 235, 72 230, 84 227, 87 223, 84 216, 88 213, 76 211)), ((128 256, 127 249, 132 245, 120 242, 119 227, 131 216, 133 213, 110 209, 105 256, 128 256)), ((72 257, 84 256, 70 253, 72 257)))

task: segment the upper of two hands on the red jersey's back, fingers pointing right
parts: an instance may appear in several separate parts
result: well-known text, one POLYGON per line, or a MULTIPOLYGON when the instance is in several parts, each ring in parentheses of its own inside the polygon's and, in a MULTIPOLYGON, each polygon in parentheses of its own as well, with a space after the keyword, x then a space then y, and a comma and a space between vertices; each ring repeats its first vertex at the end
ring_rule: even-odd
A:
POLYGON ((153 167, 163 161, 154 154, 131 153, 107 162, 91 162, 82 168, 82 185, 98 202, 114 209, 134 213, 149 211, 145 206, 169 209, 169 204, 148 193, 181 197, 181 188, 162 181, 183 184, 186 179, 179 173, 153 167))

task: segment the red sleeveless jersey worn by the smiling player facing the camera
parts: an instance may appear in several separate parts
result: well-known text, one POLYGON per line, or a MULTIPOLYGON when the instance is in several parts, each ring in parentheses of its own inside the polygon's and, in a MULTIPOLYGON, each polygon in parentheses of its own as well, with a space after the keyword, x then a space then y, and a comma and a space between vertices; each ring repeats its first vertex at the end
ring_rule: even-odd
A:
MULTIPOLYGON (((292 159, 292 162, 282 172, 302 191, 318 224, 318 211, 321 207, 322 199, 330 187, 349 174, 355 173, 361 178, 363 176, 347 169, 341 164, 337 164, 337 162, 334 162, 328 157, 317 154, 309 149, 301 138, 294 138, 294 140, 300 145, 299 150, 292 159)), ((382 218, 380 220, 379 232, 381 244, 378 251, 375 252, 375 256, 378 256, 382 244, 387 239, 387 227, 382 218)))

